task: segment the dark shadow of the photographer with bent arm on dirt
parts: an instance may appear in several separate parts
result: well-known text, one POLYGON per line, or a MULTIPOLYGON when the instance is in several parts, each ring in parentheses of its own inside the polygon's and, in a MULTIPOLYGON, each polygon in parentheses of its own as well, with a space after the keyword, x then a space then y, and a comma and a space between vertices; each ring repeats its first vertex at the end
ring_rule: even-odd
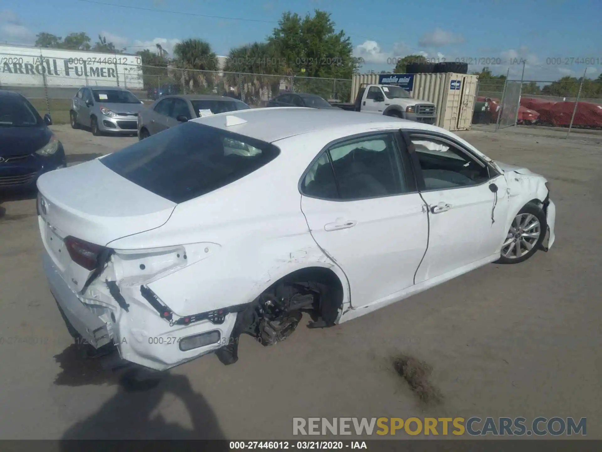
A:
MULTIPOLYGON (((164 372, 160 377, 141 379, 138 372, 126 371, 117 394, 98 412, 72 425, 62 439, 224 439, 213 410, 194 392, 187 377, 164 372), (166 394, 184 403, 192 429, 154 415, 166 394)), ((69 444, 63 442, 61 450, 70 450, 69 444)))

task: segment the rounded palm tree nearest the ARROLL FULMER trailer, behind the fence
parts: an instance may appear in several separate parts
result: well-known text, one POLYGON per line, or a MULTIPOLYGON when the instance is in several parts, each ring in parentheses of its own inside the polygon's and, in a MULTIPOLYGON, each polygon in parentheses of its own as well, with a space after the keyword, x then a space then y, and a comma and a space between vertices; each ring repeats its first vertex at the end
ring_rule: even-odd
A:
POLYGON ((176 67, 182 70, 184 83, 198 92, 212 88, 217 81, 217 55, 211 45, 200 39, 187 39, 173 48, 176 67), (214 71, 200 72, 200 71, 214 71))

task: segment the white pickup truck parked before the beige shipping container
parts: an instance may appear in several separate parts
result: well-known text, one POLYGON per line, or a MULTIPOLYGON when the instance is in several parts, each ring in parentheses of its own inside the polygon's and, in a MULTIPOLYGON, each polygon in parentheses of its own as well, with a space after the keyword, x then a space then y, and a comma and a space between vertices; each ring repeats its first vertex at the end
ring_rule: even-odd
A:
POLYGON ((414 99, 405 89, 396 85, 367 84, 359 88, 355 104, 332 103, 332 105, 344 110, 396 116, 426 124, 436 123, 435 104, 414 99))

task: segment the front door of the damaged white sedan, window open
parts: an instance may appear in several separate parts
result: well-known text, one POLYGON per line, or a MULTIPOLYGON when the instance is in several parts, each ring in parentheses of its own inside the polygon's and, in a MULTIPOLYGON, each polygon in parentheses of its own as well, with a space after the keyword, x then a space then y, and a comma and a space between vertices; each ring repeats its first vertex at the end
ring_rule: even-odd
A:
POLYGON ((408 139, 429 206, 429 248, 415 283, 494 260, 507 232, 506 179, 451 138, 421 132, 408 139))

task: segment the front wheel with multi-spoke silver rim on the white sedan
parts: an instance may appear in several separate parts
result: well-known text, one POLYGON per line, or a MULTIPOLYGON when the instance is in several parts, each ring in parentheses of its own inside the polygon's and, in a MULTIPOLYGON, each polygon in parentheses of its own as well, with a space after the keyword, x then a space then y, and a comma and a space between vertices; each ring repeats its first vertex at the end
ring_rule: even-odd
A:
POLYGON ((541 207, 529 202, 512 219, 506 239, 501 246, 496 263, 520 263, 529 259, 541 248, 548 222, 541 207))

